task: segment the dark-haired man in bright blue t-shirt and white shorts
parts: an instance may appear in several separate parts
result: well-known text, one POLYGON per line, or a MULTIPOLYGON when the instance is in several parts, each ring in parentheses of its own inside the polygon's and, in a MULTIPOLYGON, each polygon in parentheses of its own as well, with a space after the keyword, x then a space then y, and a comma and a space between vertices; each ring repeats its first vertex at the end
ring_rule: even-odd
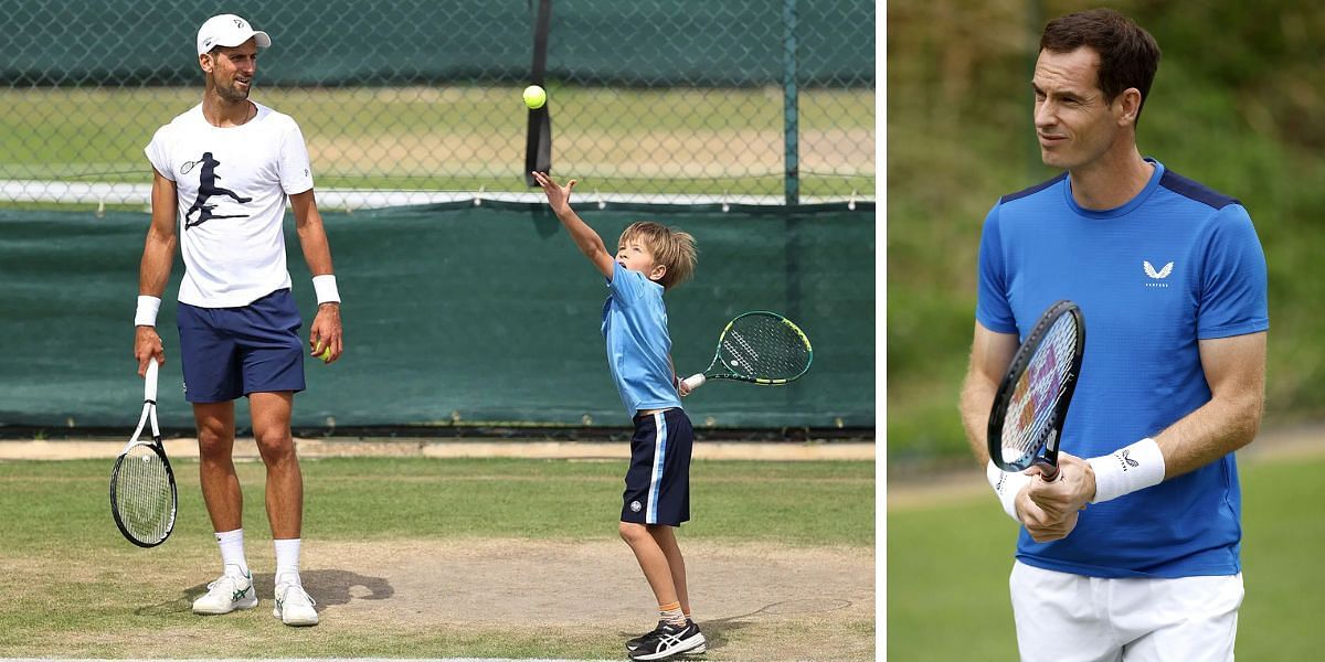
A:
POLYGON ((1040 312, 1072 299, 1089 330, 1060 478, 987 469, 1024 526, 1010 583, 1023 659, 1232 659, 1234 451, 1264 401, 1265 258, 1238 200, 1141 156, 1158 62, 1154 38, 1110 9, 1051 21, 1035 128, 1065 172, 984 220, 961 405, 980 462, 998 384, 1040 312))

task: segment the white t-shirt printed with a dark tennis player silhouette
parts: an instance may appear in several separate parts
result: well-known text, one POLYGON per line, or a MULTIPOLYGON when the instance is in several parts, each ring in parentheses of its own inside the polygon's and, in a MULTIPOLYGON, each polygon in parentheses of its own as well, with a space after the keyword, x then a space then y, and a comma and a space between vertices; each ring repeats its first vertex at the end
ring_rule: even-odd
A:
POLYGON ((144 150, 178 191, 183 303, 248 306, 290 287, 281 224, 286 196, 313 188, 309 151, 293 118, 254 106, 253 119, 219 128, 199 103, 144 150))

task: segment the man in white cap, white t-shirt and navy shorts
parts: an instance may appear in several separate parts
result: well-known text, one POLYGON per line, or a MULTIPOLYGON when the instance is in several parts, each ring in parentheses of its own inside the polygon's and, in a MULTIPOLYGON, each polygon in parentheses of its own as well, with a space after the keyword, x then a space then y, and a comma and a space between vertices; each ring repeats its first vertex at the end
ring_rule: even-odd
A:
POLYGON ((285 266, 286 200, 318 299, 309 351, 330 352, 329 361, 343 350, 341 297, 303 134, 289 115, 248 98, 257 50, 270 45, 265 32, 238 16, 208 19, 197 30, 197 64, 207 78, 203 102, 158 130, 146 148, 154 168, 152 222, 139 267, 134 357, 139 375, 147 361, 166 361, 156 311, 179 245, 184 395, 193 405, 203 498, 223 564, 193 613, 257 606, 244 557, 242 494, 231 459, 235 400, 246 396, 266 463, 266 514, 276 542, 273 614, 286 625, 317 625, 315 602, 299 579, 303 478, 290 414, 294 393, 305 388, 305 348, 285 266))

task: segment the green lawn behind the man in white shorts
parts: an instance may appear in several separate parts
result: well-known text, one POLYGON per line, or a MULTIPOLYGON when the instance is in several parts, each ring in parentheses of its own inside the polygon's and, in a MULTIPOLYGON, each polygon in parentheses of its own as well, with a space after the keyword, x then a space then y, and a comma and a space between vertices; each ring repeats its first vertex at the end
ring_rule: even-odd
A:
MULTIPOLYGON (((1325 458, 1244 463, 1239 659, 1317 659, 1325 458)), ((888 657, 1014 661, 1016 528, 988 494, 888 512, 888 657), (961 637, 953 637, 961 632, 961 637)))

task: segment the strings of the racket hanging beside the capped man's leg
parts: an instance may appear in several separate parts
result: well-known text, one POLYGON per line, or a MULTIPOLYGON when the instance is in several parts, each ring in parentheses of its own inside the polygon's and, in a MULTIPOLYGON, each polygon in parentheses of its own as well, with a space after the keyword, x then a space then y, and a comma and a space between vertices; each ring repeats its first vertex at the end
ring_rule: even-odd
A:
POLYGON ((154 449, 135 445, 115 473, 115 511, 134 538, 152 543, 166 538, 171 520, 170 475, 154 449))

